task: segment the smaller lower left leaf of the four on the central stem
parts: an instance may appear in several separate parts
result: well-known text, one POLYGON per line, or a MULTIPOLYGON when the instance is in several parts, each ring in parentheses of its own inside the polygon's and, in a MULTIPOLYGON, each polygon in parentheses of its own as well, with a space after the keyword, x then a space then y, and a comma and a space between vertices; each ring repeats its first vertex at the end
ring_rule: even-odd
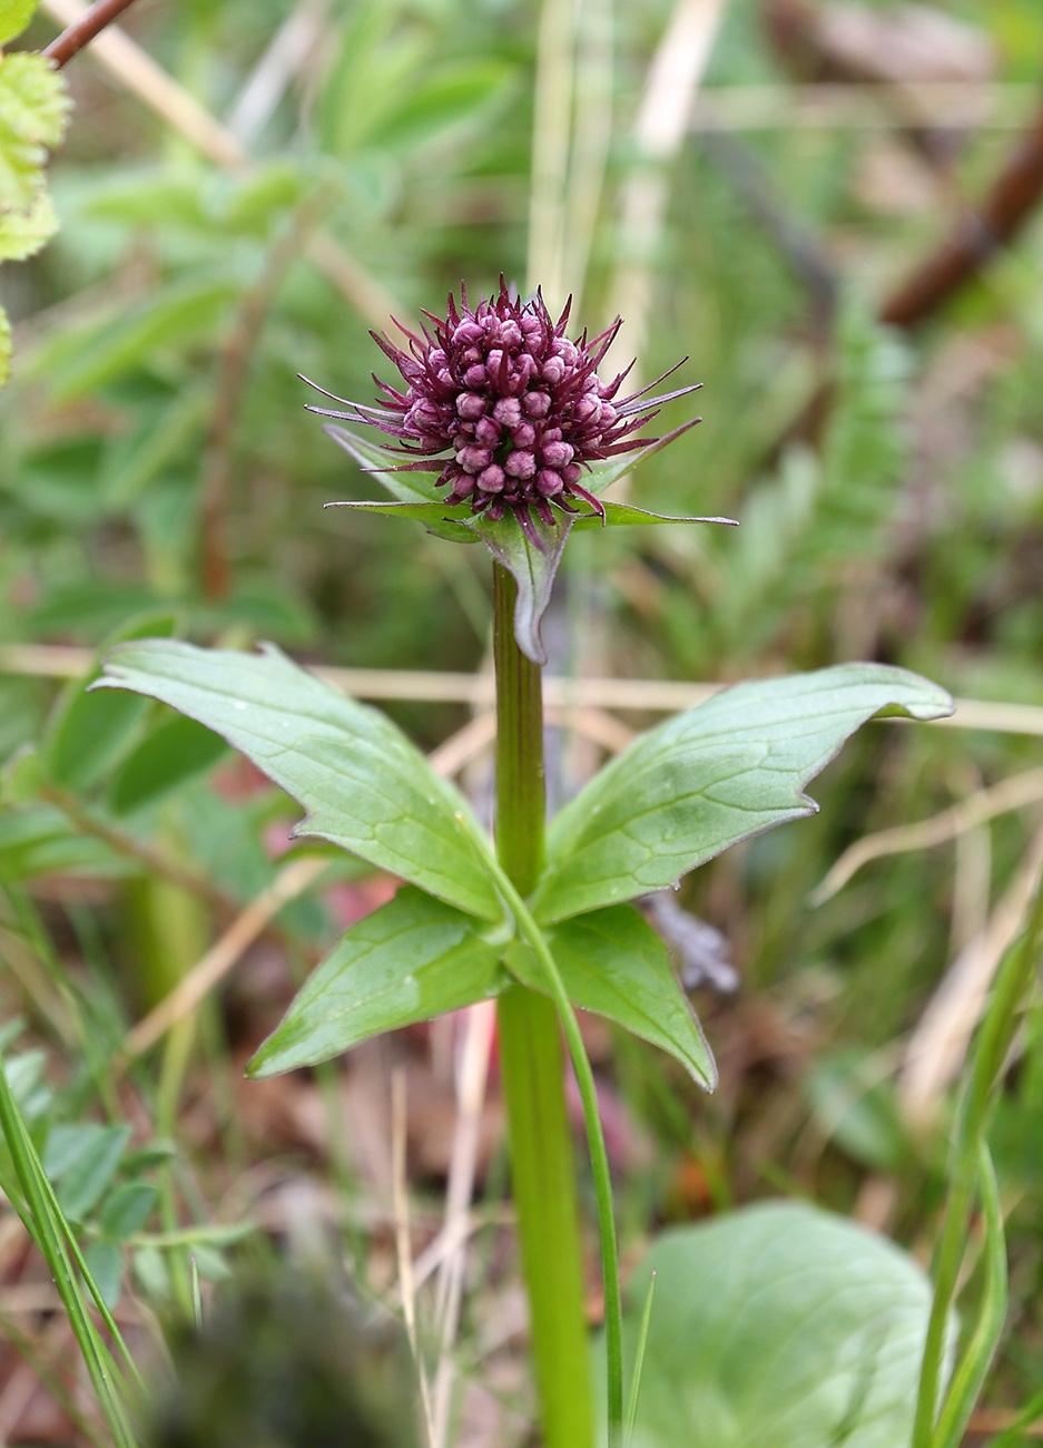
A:
POLYGON ((349 930, 246 1073, 328 1061, 370 1035, 499 995, 511 983, 501 956, 472 917, 406 886, 349 930))

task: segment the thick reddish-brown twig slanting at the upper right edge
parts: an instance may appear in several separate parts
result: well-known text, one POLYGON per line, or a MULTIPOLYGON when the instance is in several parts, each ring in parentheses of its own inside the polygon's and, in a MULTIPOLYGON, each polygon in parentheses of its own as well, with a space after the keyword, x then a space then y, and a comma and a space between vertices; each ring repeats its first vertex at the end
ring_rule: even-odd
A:
POLYGON ((914 327, 933 316, 966 281, 1008 246, 1043 197, 1043 106, 976 211, 887 300, 881 321, 914 327))

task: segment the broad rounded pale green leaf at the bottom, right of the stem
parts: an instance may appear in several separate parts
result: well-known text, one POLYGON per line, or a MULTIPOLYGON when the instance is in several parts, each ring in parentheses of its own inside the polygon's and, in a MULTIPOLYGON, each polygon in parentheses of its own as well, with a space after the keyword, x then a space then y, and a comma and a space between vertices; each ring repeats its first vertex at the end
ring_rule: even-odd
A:
POLYGON ((930 1283, 893 1242, 794 1202, 667 1231, 631 1274, 631 1361, 650 1270, 635 1448, 908 1444, 930 1283))

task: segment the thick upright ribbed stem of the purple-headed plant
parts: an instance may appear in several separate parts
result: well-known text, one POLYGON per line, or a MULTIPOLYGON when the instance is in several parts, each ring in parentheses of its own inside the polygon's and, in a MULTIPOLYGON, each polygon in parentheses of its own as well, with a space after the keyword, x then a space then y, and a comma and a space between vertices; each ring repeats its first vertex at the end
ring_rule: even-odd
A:
MULTIPOLYGON (((496 854, 529 895, 542 860, 544 763, 540 669, 514 636, 515 581, 493 566, 496 662, 496 854)), ((514 986, 498 1002, 511 1179, 545 1448, 592 1448, 593 1413, 576 1170, 557 1011, 514 986)))

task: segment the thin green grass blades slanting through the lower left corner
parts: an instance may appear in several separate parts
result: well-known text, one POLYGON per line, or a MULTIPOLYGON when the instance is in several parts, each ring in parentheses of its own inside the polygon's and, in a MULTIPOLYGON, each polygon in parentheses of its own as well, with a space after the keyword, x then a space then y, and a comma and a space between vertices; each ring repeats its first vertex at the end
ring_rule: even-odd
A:
MULTIPOLYGON (((0 1060, 0 1129, 7 1141, 14 1171, 25 1193, 25 1225, 43 1254, 55 1287, 69 1319, 69 1326, 82 1352, 91 1384, 104 1413, 116 1448, 136 1448, 135 1436, 127 1422, 122 1399, 122 1378, 113 1358, 91 1321, 80 1283, 75 1279, 68 1253, 62 1244, 65 1235, 72 1247, 72 1232, 51 1190, 51 1183, 36 1156, 22 1112, 7 1082, 7 1073, 0 1060)), ((77 1266, 87 1280, 85 1264, 78 1247, 74 1248, 77 1266)), ((94 1289, 97 1292, 97 1289, 94 1289)), ((98 1297, 101 1295, 98 1293, 98 1297)), ((106 1309, 107 1321, 111 1321, 106 1309)), ((113 1323, 114 1326, 114 1323, 113 1323)))

